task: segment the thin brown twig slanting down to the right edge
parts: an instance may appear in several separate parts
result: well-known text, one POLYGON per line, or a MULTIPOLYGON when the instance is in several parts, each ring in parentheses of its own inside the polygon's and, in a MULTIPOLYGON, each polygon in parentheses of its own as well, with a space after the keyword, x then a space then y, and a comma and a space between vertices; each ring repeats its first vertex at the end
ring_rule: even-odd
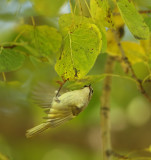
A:
POLYGON ((126 57, 125 51, 124 51, 124 49, 123 49, 123 47, 122 47, 122 44, 121 44, 120 39, 119 39, 119 37, 118 37, 117 31, 116 31, 116 30, 112 30, 112 32, 113 32, 113 34, 114 34, 115 41, 116 41, 116 43, 117 43, 117 45, 118 45, 118 47, 119 47, 119 50, 120 50, 120 52, 121 52, 122 59, 123 59, 123 61, 125 62, 125 64, 128 66, 128 68, 129 68, 129 70, 130 70, 130 72, 131 72, 131 75, 132 75, 133 79, 136 80, 137 86, 138 86, 140 92, 141 92, 141 93, 148 99, 148 101, 151 103, 151 98, 150 98, 149 95, 146 93, 146 91, 145 91, 145 89, 144 89, 144 87, 143 87, 142 80, 139 79, 139 78, 137 78, 137 76, 136 76, 136 74, 135 74, 135 72, 134 72, 134 70, 133 70, 133 68, 132 68, 132 65, 131 65, 130 61, 129 61, 128 58, 126 57))

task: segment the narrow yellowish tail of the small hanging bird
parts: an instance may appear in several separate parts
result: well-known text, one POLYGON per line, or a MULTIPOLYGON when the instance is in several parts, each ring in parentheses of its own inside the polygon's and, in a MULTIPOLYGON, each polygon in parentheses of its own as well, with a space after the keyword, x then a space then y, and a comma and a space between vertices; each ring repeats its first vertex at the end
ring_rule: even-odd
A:
POLYGON ((43 132, 44 130, 48 129, 50 127, 50 123, 46 122, 46 123, 42 123, 38 126, 35 126, 29 130, 26 131, 26 137, 27 138, 31 138, 41 132, 43 132))

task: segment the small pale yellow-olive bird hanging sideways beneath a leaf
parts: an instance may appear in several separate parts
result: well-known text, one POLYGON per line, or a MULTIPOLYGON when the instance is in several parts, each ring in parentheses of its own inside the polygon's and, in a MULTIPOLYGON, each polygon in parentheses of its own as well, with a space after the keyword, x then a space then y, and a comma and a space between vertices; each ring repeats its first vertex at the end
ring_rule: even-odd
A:
POLYGON ((67 122, 76 117, 81 111, 83 111, 93 94, 91 85, 84 86, 82 89, 66 92, 62 95, 58 93, 50 101, 50 95, 47 95, 46 100, 39 102, 44 108, 48 108, 46 113, 46 121, 42 124, 35 126, 27 130, 26 137, 31 138, 48 128, 54 128, 60 126, 64 122, 67 122))

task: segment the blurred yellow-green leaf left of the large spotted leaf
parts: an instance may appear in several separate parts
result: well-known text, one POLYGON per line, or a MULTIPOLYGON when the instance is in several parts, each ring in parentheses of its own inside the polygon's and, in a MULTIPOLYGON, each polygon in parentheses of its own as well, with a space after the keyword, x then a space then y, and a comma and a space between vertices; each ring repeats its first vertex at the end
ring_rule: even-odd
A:
POLYGON ((34 56, 50 57, 61 47, 62 37, 53 27, 23 25, 19 31, 23 32, 19 40, 27 42, 25 48, 34 56))

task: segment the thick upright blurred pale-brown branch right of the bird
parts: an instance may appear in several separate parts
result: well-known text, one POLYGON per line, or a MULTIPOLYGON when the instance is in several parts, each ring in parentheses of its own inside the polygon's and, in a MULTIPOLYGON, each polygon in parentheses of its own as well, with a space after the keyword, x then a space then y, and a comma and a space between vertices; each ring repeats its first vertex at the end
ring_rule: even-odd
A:
MULTIPOLYGON (((114 59, 109 56, 106 62, 105 73, 113 72, 114 59)), ((111 136, 110 136, 110 91, 111 76, 104 79, 103 92, 101 96, 101 139, 102 139, 102 160, 111 160, 111 136)))

